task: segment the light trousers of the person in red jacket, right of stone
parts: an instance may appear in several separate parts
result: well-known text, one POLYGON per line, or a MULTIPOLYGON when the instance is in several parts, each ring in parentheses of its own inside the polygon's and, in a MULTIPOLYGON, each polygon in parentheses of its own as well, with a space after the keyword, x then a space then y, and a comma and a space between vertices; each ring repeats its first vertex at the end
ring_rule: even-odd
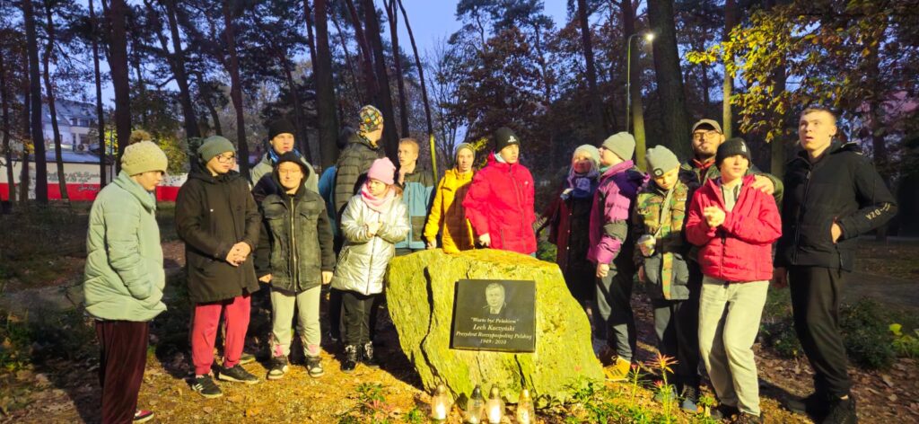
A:
POLYGON ((698 307, 698 348, 720 403, 759 416, 753 343, 769 281, 733 282, 706 276, 698 307))

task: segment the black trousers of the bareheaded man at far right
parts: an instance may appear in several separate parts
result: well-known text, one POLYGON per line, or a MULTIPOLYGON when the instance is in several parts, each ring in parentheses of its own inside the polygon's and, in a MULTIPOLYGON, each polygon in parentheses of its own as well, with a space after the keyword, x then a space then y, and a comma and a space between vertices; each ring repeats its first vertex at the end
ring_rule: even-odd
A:
POLYGON ((789 268, 795 330, 811 361, 814 389, 835 397, 848 395, 852 386, 839 327, 839 301, 847 274, 820 267, 789 268))

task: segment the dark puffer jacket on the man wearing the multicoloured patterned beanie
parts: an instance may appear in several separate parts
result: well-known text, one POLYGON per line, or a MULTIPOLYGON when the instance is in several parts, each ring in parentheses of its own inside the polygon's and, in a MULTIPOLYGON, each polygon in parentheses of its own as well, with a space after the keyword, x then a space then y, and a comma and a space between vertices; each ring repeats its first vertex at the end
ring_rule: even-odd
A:
POLYGON ((345 211, 345 206, 347 201, 351 200, 351 196, 357 194, 360 185, 367 178, 370 165, 373 165, 373 161, 382 155, 383 152, 379 145, 371 146, 370 142, 360 135, 351 135, 345 151, 338 156, 338 162, 335 164, 335 213, 337 216, 341 216, 345 211))

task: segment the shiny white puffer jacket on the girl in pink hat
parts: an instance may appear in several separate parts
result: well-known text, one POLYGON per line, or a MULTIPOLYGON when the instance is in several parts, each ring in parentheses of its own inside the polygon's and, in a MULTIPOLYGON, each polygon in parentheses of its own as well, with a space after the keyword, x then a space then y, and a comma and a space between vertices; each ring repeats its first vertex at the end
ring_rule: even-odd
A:
POLYGON ((360 193, 347 202, 342 213, 342 235, 345 246, 338 255, 332 287, 364 295, 383 292, 383 276, 395 244, 408 235, 408 210, 401 199, 394 197, 384 212, 369 208, 360 193), (367 223, 380 221, 377 235, 367 235, 367 223))

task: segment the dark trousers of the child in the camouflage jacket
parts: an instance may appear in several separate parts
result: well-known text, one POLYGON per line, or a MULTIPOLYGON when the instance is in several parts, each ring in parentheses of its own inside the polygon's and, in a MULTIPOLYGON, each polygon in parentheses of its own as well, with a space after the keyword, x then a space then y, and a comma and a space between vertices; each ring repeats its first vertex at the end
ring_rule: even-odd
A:
MULTIPOLYGON (((652 300, 654 332, 657 350, 676 360, 675 380, 678 390, 684 387, 698 389, 698 298, 702 292, 701 281, 689 284, 689 298, 685 300, 652 300)), ((668 379, 670 377, 668 376, 668 379)))

